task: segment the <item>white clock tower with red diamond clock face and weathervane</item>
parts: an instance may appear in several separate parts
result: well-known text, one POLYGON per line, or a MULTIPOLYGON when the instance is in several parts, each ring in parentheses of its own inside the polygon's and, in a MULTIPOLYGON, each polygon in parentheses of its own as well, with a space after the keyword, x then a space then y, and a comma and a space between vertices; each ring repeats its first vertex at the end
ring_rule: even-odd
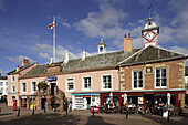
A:
POLYGON ((144 48, 148 45, 156 46, 158 44, 157 35, 159 34, 159 27, 157 27, 155 22, 152 22, 150 7, 149 7, 148 22, 145 24, 144 30, 142 30, 142 35, 144 39, 144 48))

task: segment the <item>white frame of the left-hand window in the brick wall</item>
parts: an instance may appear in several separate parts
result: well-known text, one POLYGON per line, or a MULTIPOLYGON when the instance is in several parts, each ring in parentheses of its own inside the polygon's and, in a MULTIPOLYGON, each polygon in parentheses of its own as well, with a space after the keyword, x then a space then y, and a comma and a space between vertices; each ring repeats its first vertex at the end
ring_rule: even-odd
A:
MULTIPOLYGON (((140 72, 140 71, 142 71, 142 74, 143 74, 143 87, 144 87, 144 71, 143 70, 135 70, 135 71, 132 72, 132 88, 133 90, 143 90, 143 87, 138 86, 138 84, 139 84, 138 82, 137 82, 137 87, 136 88, 134 87, 134 72, 137 72, 137 74, 138 74, 138 72, 140 72)), ((137 75, 136 81, 138 81, 138 80, 139 80, 139 76, 137 75)))

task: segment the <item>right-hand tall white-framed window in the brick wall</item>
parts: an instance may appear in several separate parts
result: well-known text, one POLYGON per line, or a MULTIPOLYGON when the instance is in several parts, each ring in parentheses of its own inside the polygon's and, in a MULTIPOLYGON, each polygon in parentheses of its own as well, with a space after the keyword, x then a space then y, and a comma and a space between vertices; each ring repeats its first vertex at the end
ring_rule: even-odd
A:
POLYGON ((156 87, 167 87, 167 67, 156 69, 156 87))

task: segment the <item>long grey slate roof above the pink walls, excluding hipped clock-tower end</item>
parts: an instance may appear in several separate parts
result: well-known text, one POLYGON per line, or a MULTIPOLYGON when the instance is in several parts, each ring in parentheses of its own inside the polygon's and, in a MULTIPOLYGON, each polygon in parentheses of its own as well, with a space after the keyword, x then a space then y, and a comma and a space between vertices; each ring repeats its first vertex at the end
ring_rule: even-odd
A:
MULTIPOLYGON (((115 69, 116 64, 119 61, 123 61, 125 58, 137 52, 139 49, 133 49, 133 52, 119 51, 112 53, 97 54, 93 56, 86 56, 85 60, 74 59, 70 60, 67 63, 58 62, 56 66, 60 66, 61 73, 73 73, 73 72, 83 72, 83 71, 94 71, 94 70, 104 70, 104 69, 115 69)), ((48 75, 49 64, 36 65, 30 70, 23 77, 30 76, 43 76, 48 75)))

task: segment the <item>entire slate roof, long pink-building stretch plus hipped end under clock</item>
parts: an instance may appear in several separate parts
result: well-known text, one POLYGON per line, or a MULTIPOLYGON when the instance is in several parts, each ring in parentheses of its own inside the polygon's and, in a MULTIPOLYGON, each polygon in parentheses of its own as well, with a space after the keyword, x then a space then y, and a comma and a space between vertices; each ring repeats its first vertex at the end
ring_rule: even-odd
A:
MULTIPOLYGON (((67 63, 58 62, 53 65, 60 66, 60 74, 62 73, 75 73, 75 72, 84 72, 84 71, 96 71, 96 70, 106 70, 106 69, 115 69, 117 65, 129 65, 129 64, 140 64, 146 62, 155 62, 155 61, 165 61, 173 60, 178 58, 187 58, 184 54, 173 52, 166 49, 161 49, 158 46, 147 46, 143 49, 133 49, 132 52, 112 52, 97 54, 93 56, 86 56, 85 60, 74 59, 70 60, 67 63)), ((24 77, 32 76, 46 76, 49 64, 36 65, 32 70, 30 70, 24 77)), ((59 74, 54 73, 54 74, 59 74)))

